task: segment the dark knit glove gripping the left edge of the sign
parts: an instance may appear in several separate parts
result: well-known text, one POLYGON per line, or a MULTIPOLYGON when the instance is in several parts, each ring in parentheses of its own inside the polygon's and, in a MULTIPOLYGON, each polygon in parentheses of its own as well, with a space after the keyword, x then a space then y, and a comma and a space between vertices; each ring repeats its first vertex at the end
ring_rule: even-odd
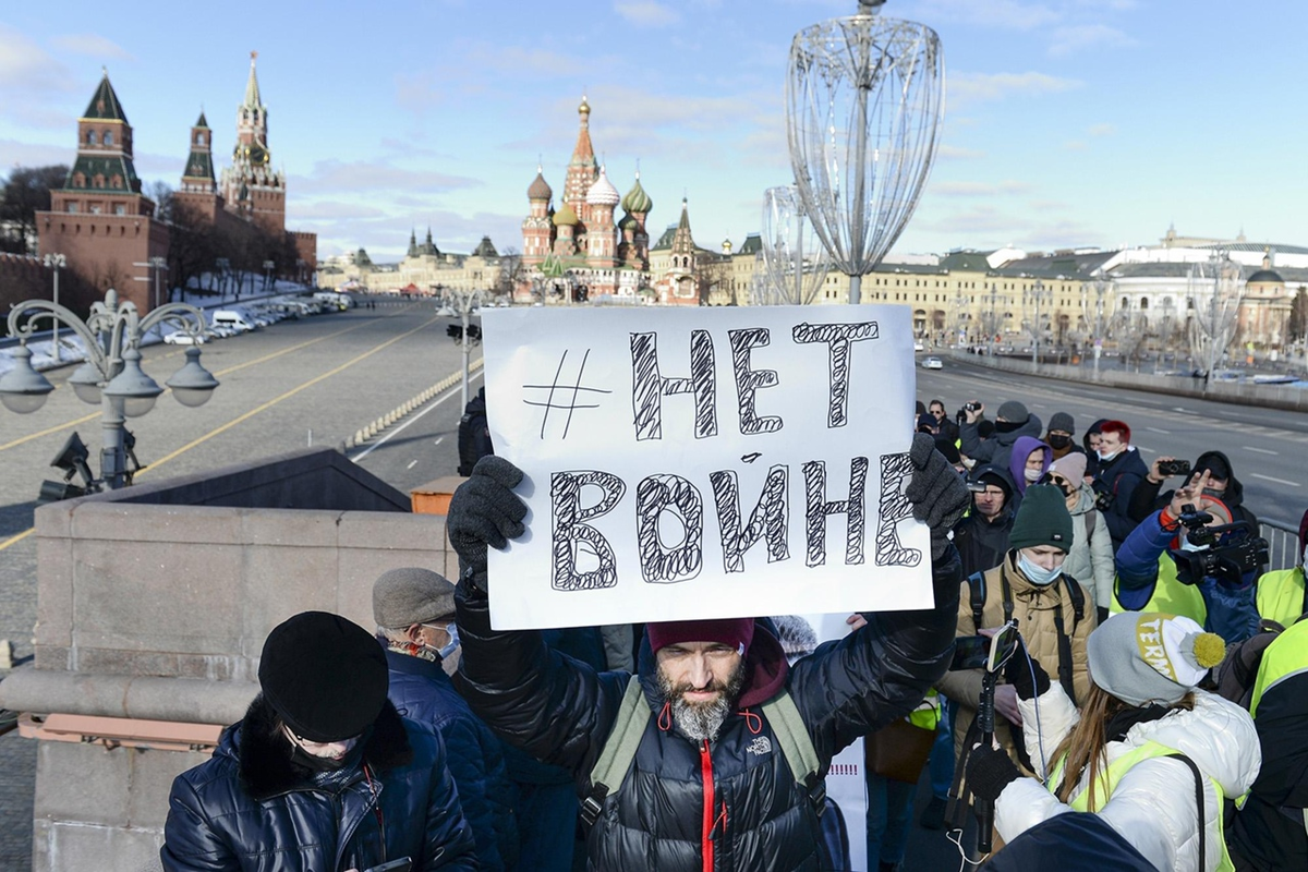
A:
POLYGON ((487 546, 505 548, 527 528, 527 505, 513 493, 522 481, 522 469, 504 458, 488 455, 477 460, 472 475, 450 499, 445 529, 459 554, 462 574, 477 588, 487 590, 487 546))

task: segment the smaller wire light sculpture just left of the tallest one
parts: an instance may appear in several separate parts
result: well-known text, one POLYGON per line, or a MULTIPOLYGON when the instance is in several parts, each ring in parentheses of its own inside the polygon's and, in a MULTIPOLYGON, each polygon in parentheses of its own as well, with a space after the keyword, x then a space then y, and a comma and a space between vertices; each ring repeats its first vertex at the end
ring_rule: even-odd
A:
POLYGON ((807 306, 823 288, 831 255, 804 217, 804 204, 793 184, 763 195, 764 299, 807 306))

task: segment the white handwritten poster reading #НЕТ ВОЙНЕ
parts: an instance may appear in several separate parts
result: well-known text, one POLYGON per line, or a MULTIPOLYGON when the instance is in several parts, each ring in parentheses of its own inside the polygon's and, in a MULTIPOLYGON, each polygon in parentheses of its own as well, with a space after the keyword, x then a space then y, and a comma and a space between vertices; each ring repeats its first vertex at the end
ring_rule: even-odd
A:
POLYGON ((487 311, 496 629, 931 605, 903 306, 487 311))

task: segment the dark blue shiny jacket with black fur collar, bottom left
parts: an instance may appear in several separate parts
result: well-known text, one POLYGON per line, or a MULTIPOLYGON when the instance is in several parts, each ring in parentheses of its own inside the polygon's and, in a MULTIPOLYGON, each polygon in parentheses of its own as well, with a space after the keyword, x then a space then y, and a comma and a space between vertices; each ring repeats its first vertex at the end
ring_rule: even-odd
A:
POLYGON ((314 787, 272 706, 255 697, 213 757, 173 780, 165 872, 344 872, 403 856, 415 872, 477 868, 436 733, 387 702, 362 760, 337 792, 314 787))

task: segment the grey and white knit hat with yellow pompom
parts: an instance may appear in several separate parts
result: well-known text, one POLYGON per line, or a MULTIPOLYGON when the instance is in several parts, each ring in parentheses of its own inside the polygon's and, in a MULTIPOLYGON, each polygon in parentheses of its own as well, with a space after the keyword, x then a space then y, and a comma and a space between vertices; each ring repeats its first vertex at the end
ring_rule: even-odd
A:
POLYGON ((1226 642, 1188 617, 1122 612, 1090 634, 1086 655, 1091 680, 1122 702, 1169 706, 1222 663, 1226 642))

